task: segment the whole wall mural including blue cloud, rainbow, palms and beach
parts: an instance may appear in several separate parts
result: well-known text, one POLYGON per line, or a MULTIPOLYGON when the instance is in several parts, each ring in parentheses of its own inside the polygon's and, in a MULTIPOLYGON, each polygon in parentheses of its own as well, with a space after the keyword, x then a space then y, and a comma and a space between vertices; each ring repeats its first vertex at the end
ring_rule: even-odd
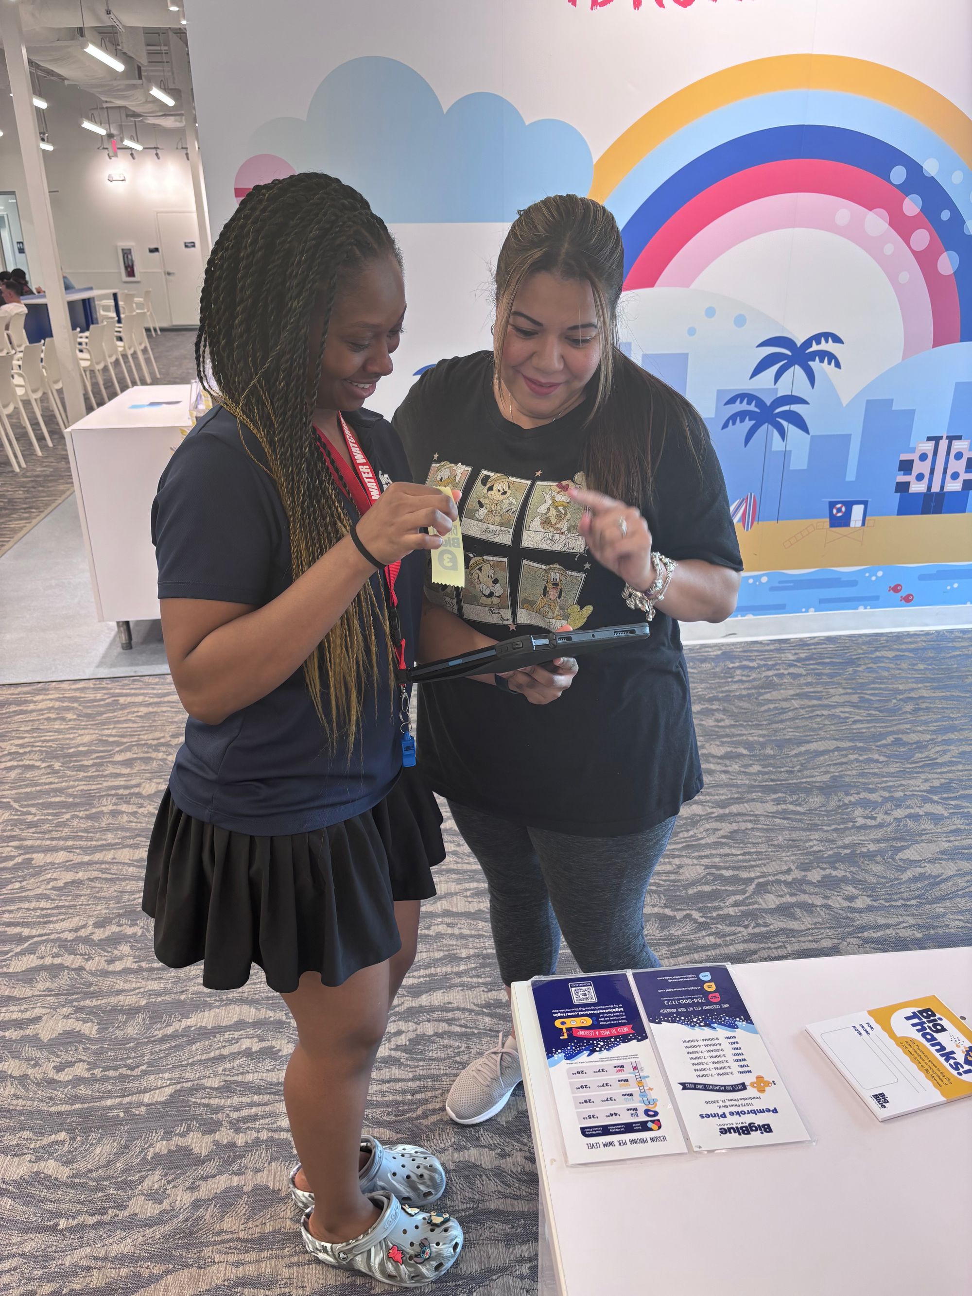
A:
MULTIPOLYGON (((399 226, 502 229, 544 193, 588 192, 622 229, 626 350, 710 429, 739 614, 972 603, 972 119, 931 86, 840 54, 739 62, 595 161, 582 123, 478 89, 445 106, 368 56, 249 144, 237 201, 319 167, 399 226), (369 113, 345 119, 351 100, 369 113)), ((410 271, 445 273, 450 310, 481 297, 447 267, 410 271)), ((410 373, 455 340, 434 346, 410 373)))

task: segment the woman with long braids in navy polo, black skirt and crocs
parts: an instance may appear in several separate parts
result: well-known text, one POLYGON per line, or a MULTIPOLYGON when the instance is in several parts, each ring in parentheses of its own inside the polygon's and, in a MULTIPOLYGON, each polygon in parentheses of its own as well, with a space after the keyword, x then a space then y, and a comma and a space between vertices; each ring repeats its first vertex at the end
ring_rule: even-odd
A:
MULTIPOLYGON (((424 551, 456 508, 411 485, 394 432, 363 410, 391 372, 404 310, 385 224, 327 175, 253 189, 213 250, 197 368, 219 403, 172 456, 153 508, 188 721, 143 907, 162 963, 202 960, 213 989, 242 985, 257 964, 293 1015, 290 1191, 310 1253, 413 1286, 441 1277, 463 1242, 433 1208, 445 1172, 424 1148, 362 1137, 445 855, 435 802, 410 767, 397 669, 419 643, 424 551)), ((517 687, 552 700, 570 683, 538 677, 517 687)))

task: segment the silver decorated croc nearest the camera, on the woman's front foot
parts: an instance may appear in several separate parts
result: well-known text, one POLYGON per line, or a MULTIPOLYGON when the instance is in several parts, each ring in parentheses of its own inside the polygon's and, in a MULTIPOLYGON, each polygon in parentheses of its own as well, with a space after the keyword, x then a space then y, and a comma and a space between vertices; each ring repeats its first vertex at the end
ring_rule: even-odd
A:
POLYGON ((402 1205, 390 1192, 372 1192, 369 1198, 381 1214, 367 1232, 350 1242, 318 1242, 307 1227, 311 1212, 305 1212, 301 1236, 315 1260, 391 1287, 433 1283, 455 1264, 463 1230, 451 1216, 402 1205))

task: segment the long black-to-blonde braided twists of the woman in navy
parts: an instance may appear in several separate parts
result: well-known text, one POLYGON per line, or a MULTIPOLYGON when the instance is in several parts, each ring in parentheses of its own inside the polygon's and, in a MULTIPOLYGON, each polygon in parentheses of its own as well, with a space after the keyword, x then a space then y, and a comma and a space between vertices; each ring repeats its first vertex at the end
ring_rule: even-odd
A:
MULTIPOLYGON (((378 257, 402 263, 385 222, 362 194, 334 176, 305 171, 253 188, 206 266, 196 371, 263 450, 262 467, 289 522, 294 579, 351 529, 312 415, 334 298, 378 257), (312 316, 316 323, 321 314, 320 341, 311 350, 312 316)), ((354 739, 373 680, 382 671, 393 679, 389 644, 386 609, 367 582, 303 664, 332 743, 338 735, 354 739)))

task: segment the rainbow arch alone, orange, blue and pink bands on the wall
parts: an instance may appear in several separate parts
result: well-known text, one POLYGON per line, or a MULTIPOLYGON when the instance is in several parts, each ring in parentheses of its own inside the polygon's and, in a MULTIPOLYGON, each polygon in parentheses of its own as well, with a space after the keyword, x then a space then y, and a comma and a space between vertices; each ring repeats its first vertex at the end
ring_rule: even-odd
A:
POLYGON ((859 58, 784 54, 645 113, 596 163, 591 197, 622 226, 630 289, 688 288, 727 248, 796 222, 841 231, 888 276, 907 358, 972 336, 972 249, 955 250, 969 168, 972 121, 931 87, 859 58))

